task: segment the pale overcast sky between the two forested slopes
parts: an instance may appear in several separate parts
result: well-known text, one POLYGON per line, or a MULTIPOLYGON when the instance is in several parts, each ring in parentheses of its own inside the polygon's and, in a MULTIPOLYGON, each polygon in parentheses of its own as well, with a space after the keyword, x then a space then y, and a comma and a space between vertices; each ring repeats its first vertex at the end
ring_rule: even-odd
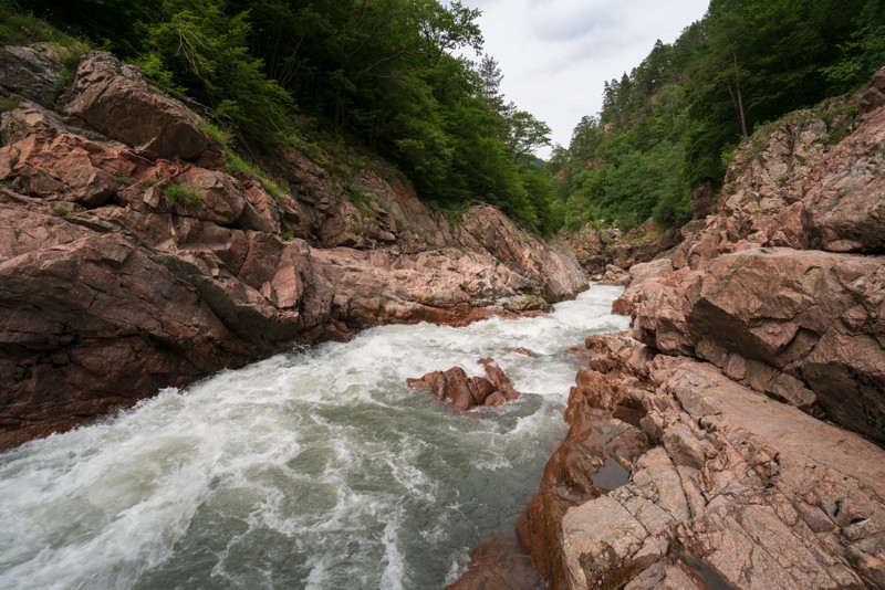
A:
POLYGON ((568 147, 581 117, 602 108, 603 83, 639 65, 656 40, 675 41, 709 0, 462 3, 482 11, 485 50, 501 67, 507 99, 550 125, 553 141, 568 147))

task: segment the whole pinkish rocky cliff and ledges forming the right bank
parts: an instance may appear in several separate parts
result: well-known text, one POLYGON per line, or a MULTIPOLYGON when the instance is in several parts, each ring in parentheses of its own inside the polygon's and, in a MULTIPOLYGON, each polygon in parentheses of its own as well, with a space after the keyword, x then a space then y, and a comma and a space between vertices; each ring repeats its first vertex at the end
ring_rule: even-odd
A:
POLYGON ((518 526, 553 588, 885 588, 883 96, 759 130, 631 268, 518 526))

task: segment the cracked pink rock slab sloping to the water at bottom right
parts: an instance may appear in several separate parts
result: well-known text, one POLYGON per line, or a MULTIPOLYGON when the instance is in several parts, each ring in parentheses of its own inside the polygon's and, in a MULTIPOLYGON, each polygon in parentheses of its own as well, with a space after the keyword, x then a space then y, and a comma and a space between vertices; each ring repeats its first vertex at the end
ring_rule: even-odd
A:
POLYGON ((611 400, 631 387, 650 447, 628 462, 628 483, 574 495, 564 509, 568 495, 548 492, 550 482, 581 481, 594 467, 587 459, 562 463, 575 451, 569 438, 551 457, 519 530, 528 547, 550 548, 532 557, 553 588, 882 587, 882 449, 709 364, 621 336, 589 346, 607 370, 579 375, 585 392, 573 390, 569 412, 607 419, 594 426, 600 436, 617 423, 611 400))

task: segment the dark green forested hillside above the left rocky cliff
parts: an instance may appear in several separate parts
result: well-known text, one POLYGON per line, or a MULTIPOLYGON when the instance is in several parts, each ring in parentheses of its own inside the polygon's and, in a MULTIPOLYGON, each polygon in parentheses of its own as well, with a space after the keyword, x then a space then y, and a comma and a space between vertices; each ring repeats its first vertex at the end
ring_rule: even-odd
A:
MULTIPOLYGON (((549 128, 507 103, 479 12, 436 0, 3 0, 140 65, 240 150, 310 154, 342 138, 402 169, 427 202, 488 202, 544 232, 551 187, 530 154, 549 128), (201 107, 201 108, 200 108, 201 107)), ((20 15, 15 15, 19 13, 20 15)), ((18 20, 17 20, 18 19, 18 20)), ((33 39, 30 39, 33 40, 33 39)))

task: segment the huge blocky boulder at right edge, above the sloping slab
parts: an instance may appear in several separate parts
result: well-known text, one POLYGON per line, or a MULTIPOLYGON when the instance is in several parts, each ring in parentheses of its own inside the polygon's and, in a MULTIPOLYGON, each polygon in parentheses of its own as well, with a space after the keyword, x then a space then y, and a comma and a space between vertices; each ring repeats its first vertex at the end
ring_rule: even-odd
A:
POLYGON ((720 367, 721 354, 697 346, 706 335, 773 368, 745 379, 754 389, 803 407, 816 397, 841 424, 885 440, 883 294, 882 256, 748 250, 710 264, 683 329, 720 367))

